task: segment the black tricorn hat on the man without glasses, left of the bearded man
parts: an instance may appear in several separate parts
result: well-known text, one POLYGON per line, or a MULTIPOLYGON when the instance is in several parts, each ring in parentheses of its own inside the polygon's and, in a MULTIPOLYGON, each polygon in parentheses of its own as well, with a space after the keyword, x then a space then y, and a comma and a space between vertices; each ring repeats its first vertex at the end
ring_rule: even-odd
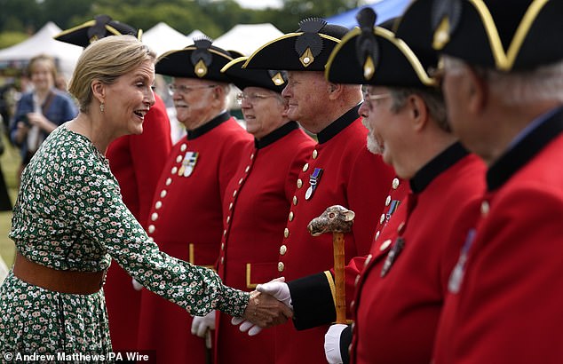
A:
POLYGON ((324 71, 330 52, 348 29, 320 18, 299 22, 299 29, 274 39, 250 55, 245 68, 324 71))

